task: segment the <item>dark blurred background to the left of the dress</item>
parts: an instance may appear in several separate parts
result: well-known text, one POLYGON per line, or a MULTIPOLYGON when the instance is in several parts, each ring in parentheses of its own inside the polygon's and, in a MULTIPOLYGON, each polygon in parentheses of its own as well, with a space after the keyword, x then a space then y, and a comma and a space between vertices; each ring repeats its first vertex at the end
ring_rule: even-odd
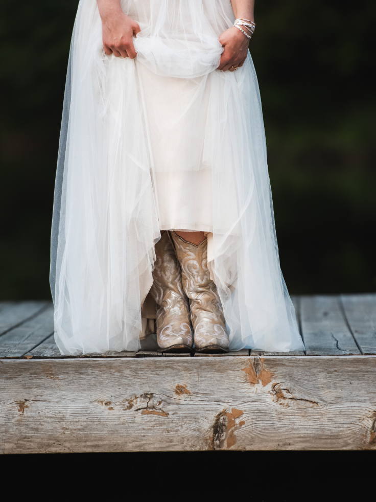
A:
POLYGON ((77 0, 0 0, 1 299, 50 298, 59 129, 77 0))

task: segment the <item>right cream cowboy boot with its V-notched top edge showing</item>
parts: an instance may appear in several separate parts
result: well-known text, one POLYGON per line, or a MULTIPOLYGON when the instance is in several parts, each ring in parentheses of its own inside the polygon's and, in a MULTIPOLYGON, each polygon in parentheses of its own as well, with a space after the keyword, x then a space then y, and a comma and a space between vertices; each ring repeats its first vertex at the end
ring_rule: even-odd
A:
POLYGON ((217 287, 207 268, 207 239, 196 246, 171 232, 181 266, 185 294, 190 299, 196 352, 228 352, 229 339, 217 287))

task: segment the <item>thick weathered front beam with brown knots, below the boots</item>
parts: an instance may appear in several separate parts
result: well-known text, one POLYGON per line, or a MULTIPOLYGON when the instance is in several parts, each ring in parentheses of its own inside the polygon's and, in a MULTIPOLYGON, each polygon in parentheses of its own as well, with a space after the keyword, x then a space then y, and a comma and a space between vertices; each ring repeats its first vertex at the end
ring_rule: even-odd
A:
POLYGON ((376 449, 376 357, 0 363, 3 453, 376 449))

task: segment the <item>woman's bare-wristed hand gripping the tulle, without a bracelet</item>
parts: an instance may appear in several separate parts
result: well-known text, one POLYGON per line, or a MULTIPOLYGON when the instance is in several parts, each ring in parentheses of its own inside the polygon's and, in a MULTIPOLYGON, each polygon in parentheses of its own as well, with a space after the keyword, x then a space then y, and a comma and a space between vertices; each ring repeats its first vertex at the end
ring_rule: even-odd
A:
POLYGON ((135 58, 137 53, 132 38, 141 31, 138 23, 124 14, 120 0, 97 0, 97 4, 105 54, 135 58))

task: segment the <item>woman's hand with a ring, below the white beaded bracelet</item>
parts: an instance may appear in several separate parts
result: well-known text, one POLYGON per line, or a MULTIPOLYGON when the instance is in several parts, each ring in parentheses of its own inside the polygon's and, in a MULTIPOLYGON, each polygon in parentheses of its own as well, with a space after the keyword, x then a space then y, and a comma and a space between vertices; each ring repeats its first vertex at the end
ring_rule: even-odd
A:
POLYGON ((232 26, 222 33, 219 41, 222 44, 223 53, 218 70, 233 72, 239 66, 243 66, 248 55, 249 38, 232 26))

